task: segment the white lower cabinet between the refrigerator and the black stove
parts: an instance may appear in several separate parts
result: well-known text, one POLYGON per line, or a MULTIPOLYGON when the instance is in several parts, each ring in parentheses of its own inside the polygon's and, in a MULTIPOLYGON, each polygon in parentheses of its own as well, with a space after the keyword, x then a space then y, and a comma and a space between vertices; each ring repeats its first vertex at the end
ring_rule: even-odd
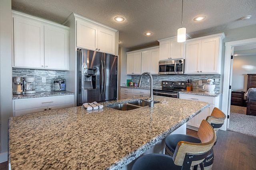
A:
POLYGON ((136 88, 120 88, 120 100, 130 99, 130 98, 140 98, 144 96, 149 96, 150 90, 146 89, 136 89, 136 88))

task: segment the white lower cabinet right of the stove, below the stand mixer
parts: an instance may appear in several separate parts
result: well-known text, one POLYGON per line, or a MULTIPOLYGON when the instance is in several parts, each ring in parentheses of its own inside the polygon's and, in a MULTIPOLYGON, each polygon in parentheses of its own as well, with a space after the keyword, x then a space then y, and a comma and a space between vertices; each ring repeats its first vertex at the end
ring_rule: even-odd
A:
POLYGON ((212 113, 212 110, 214 107, 219 107, 220 96, 201 96, 201 95, 183 94, 183 93, 180 93, 179 95, 180 95, 180 99, 210 103, 209 107, 204 109, 202 112, 198 113, 198 115, 196 115, 195 117, 193 117, 187 122, 188 129, 193 129, 197 131, 202 120, 206 119, 206 117, 212 113))

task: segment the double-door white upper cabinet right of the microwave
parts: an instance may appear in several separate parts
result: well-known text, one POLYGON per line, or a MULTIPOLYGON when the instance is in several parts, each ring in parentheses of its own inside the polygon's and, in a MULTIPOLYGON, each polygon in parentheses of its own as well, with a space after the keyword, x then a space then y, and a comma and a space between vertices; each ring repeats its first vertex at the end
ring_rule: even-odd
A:
POLYGON ((220 33, 187 40, 185 74, 220 74, 224 37, 220 33))

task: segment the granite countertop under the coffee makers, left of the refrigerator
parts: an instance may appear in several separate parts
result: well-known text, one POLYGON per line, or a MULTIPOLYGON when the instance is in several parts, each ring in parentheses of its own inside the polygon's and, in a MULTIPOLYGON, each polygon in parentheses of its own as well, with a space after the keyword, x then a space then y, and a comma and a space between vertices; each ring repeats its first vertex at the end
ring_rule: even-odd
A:
POLYGON ((12 99, 28 99, 28 98, 40 98, 40 97, 49 97, 49 96, 61 96, 61 95, 69 95, 74 94, 69 91, 44 91, 44 92, 36 92, 32 94, 13 94, 12 99))

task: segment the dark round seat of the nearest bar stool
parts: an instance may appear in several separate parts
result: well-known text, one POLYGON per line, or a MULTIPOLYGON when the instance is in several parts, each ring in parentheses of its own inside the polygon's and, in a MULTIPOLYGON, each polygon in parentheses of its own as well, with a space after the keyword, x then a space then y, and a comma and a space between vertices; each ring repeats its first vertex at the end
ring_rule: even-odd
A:
POLYGON ((132 170, 181 170, 172 160, 172 156, 165 154, 146 154, 136 160, 132 170))

